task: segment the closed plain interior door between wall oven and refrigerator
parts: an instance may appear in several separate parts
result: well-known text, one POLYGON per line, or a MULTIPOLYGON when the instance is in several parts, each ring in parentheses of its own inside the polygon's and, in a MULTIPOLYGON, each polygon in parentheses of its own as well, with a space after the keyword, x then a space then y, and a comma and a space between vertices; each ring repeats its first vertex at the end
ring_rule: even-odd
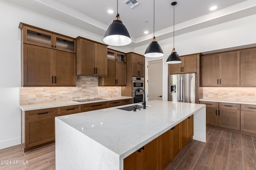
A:
POLYGON ((163 93, 163 61, 148 61, 148 101, 162 100, 163 93))

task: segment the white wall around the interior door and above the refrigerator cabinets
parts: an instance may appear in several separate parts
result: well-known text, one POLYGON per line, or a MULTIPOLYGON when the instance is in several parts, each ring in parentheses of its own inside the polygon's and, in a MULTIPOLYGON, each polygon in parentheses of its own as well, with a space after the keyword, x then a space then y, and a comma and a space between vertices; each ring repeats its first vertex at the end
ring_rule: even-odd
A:
MULTIPOLYGON (((219 25, 214 25, 212 27, 207 27, 183 35, 175 36, 175 50, 181 56, 255 44, 255 21, 256 15, 252 15, 238 20, 229 21, 219 25)), ((164 56, 155 59, 146 57, 145 65, 147 66, 148 61, 150 60, 163 59, 163 100, 168 100, 168 64, 165 62, 172 51, 173 38, 167 38, 162 41, 158 41, 158 43, 162 47, 164 56)), ((136 47, 134 52, 144 55, 147 46, 148 45, 136 47)), ((146 68, 146 80, 148 80, 147 77, 148 70, 146 68)), ((147 84, 145 84, 145 90, 146 92, 148 91, 147 84)))

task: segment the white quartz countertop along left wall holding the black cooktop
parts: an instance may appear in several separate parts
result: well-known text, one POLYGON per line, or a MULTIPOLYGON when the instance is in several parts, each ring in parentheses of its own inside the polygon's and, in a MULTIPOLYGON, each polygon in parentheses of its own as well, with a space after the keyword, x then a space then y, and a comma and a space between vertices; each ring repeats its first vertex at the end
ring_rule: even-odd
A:
POLYGON ((94 100, 94 101, 90 101, 90 102, 75 102, 75 101, 70 100, 70 101, 66 101, 66 102, 48 102, 48 103, 41 103, 41 104, 27 104, 27 105, 20 105, 20 109, 22 109, 22 111, 29 111, 29 110, 52 108, 52 107, 71 106, 71 105, 78 105, 78 104, 88 104, 88 103, 131 99, 131 98, 132 97, 128 97, 128 96, 118 96, 118 97, 108 97, 108 98, 104 97, 105 100, 94 100))

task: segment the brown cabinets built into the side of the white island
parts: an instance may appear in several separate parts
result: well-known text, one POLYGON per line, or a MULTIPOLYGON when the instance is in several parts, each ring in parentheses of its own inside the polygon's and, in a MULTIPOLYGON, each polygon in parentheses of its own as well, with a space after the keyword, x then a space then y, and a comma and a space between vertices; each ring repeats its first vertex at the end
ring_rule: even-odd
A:
POLYGON ((192 137, 193 115, 124 158, 124 170, 163 170, 192 137))

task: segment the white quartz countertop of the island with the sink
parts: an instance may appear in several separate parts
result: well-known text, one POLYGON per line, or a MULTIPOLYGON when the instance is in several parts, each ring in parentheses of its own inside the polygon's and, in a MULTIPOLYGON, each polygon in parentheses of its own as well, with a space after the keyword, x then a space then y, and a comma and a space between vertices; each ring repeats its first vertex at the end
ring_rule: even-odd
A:
POLYGON ((146 102, 146 109, 117 109, 132 105, 135 104, 65 115, 55 119, 125 158, 206 107, 202 104, 153 100, 146 102))

